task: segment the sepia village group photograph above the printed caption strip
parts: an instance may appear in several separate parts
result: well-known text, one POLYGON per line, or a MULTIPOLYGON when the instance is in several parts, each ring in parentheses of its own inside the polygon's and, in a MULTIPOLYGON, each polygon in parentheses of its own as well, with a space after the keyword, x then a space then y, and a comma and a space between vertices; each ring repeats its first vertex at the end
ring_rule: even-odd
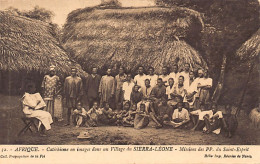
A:
POLYGON ((0 0, 0 144, 259 145, 259 9, 0 0))

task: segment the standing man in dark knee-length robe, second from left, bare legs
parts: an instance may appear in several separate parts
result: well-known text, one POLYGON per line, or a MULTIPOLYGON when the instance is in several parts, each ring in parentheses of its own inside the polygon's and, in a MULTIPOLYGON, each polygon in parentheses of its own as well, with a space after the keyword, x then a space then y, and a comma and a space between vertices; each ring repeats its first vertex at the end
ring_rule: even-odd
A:
POLYGON ((76 109, 76 104, 81 101, 83 95, 82 79, 77 76, 76 68, 71 68, 71 76, 65 79, 64 95, 68 108, 66 125, 70 125, 71 110, 76 109))

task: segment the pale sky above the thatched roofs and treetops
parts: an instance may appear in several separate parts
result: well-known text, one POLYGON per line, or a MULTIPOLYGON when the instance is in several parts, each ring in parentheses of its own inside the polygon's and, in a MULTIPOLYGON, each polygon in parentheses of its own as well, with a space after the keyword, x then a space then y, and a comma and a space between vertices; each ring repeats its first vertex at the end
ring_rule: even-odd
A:
MULTIPOLYGON (((107 0, 105 0, 107 1, 107 0)), ((123 7, 141 7, 154 6, 154 0, 119 0, 123 7)), ((79 8, 96 6, 101 0, 0 0, 0 10, 9 7, 18 8, 19 10, 31 10, 35 6, 39 6, 54 12, 53 22, 62 26, 67 15, 79 8)))

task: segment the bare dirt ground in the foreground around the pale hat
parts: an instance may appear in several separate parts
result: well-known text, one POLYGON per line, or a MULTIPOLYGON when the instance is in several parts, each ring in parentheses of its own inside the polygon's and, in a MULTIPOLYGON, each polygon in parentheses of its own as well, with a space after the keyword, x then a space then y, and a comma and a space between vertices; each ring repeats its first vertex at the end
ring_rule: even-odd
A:
POLYGON ((40 137, 29 131, 20 137, 18 132, 24 124, 21 120, 22 110, 19 98, 0 95, 0 144, 25 145, 259 145, 260 129, 253 128, 246 117, 239 117, 239 126, 233 138, 222 135, 204 134, 201 131, 190 131, 172 128, 155 129, 151 122, 147 128, 137 130, 131 127, 101 126, 80 127, 63 126, 65 122, 55 122, 48 136, 40 137), (79 140, 80 132, 88 131, 92 138, 79 140))

